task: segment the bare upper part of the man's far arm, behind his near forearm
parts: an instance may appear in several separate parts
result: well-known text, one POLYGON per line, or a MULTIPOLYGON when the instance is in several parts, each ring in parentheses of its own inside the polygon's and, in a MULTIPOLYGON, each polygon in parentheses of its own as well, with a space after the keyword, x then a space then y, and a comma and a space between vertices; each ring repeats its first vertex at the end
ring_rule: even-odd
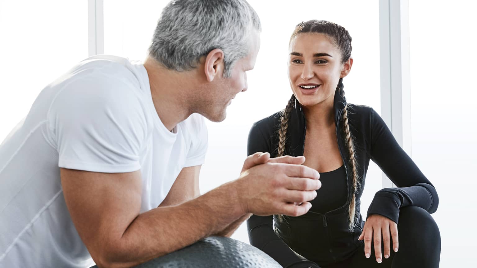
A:
POLYGON ((201 166, 182 168, 166 198, 159 206, 175 206, 200 196, 199 174, 201 166))

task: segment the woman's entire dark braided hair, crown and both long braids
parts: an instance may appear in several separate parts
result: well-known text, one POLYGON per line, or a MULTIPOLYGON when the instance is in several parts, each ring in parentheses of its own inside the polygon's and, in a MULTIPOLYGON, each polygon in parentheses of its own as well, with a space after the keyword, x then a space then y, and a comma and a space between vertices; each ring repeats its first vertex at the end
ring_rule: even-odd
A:
MULTIPOLYGON (((306 22, 299 23, 293 34, 291 35, 290 42, 293 38, 295 38, 300 33, 323 33, 328 36, 334 44, 339 48, 341 52, 341 63, 344 64, 348 61, 351 57, 351 36, 349 32, 344 29, 344 27, 329 21, 317 21, 311 20, 306 22)), ((346 100, 344 97, 344 90, 343 90, 343 83, 342 78, 338 82, 336 87, 336 91, 346 100)), ((285 145, 286 145, 286 135, 288 129, 288 120, 290 118, 290 112, 293 109, 293 104, 295 103, 295 95, 292 95, 286 108, 282 111, 280 117, 280 130, 279 134, 279 143, 278 143, 278 154, 277 156, 283 156, 285 153, 285 145)), ((348 103, 343 108, 342 118, 343 118, 343 134, 345 138, 346 149, 348 150, 349 155, 349 165, 351 166, 351 176, 352 176, 352 197, 349 203, 348 209, 348 219, 349 219, 349 228, 353 230, 356 226, 356 193, 358 190, 359 180, 358 180, 358 172, 357 172, 357 164, 356 164, 356 154, 354 153, 354 140, 353 136, 350 133, 350 126, 348 122, 348 110, 349 106, 348 103)), ((283 220, 283 215, 278 215, 278 219, 280 221, 283 220)))

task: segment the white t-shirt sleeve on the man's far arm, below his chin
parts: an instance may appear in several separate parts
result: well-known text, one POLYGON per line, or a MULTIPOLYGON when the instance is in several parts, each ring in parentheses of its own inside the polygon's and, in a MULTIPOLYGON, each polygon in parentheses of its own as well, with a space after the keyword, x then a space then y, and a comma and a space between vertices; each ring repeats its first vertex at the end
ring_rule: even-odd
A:
POLYGON ((198 113, 191 116, 193 117, 189 133, 191 144, 184 167, 204 164, 208 147, 208 132, 204 117, 198 113))

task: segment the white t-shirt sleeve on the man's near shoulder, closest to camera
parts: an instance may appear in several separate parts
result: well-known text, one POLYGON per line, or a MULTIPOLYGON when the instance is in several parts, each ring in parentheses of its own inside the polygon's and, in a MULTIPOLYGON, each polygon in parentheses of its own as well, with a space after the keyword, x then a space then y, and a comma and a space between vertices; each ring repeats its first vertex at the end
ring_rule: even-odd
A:
POLYGON ((77 79, 58 93, 48 116, 59 167, 105 173, 140 169, 147 122, 135 86, 98 75, 77 79))

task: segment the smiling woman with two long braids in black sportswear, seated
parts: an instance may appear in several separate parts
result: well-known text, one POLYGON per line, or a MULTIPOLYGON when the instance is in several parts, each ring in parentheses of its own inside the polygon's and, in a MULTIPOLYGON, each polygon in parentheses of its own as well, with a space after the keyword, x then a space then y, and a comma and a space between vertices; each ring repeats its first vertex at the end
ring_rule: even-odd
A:
POLYGON ((251 216, 250 243, 287 268, 437 268, 436 189, 373 108, 347 103, 342 81, 351 52, 348 31, 329 21, 301 22, 291 35, 293 95, 283 111, 253 124, 248 154, 303 155, 323 187, 305 215, 251 216), (363 221, 370 159, 397 187, 378 191, 363 221))

